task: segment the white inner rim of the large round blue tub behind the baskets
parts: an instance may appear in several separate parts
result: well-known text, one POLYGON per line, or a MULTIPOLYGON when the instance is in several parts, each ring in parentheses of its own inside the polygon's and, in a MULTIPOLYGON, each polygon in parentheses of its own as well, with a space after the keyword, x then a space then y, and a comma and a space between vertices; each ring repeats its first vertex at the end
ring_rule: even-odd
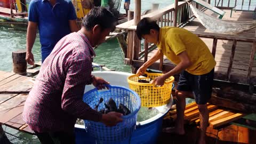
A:
MULTIPOLYGON (((103 79, 108 81, 110 83, 110 85, 124 86, 124 87, 129 89, 129 84, 127 82, 127 77, 129 77, 133 74, 125 73, 125 72, 121 72, 121 71, 93 71, 92 75, 102 77, 103 79)), ((92 89, 94 89, 93 85, 86 85, 84 93, 89 91, 89 90, 92 90, 92 89)), ((165 115, 167 113, 167 111, 171 108, 172 101, 173 101, 173 99, 172 99, 172 96, 171 96, 171 100, 167 105, 160 106, 160 107, 155 107, 159 111, 159 113, 156 116, 151 117, 151 118, 149 118, 145 121, 142 121, 142 122, 137 122, 137 125, 142 126, 142 125, 154 122, 158 118, 165 115)), ((81 128, 81 129, 85 128, 84 125, 78 125, 78 124, 75 124, 75 127, 81 128)))

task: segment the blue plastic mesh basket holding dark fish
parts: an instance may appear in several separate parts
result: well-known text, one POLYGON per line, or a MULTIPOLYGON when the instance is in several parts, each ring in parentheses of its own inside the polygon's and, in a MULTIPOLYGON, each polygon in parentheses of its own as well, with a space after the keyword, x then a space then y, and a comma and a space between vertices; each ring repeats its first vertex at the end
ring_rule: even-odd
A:
POLYGON ((123 122, 116 126, 106 126, 100 122, 84 120, 85 129, 89 134, 98 141, 122 141, 129 138, 135 130, 137 113, 140 109, 140 97, 137 93, 121 86, 110 86, 109 90, 97 89, 90 90, 84 94, 83 101, 91 108, 94 108, 99 99, 103 98, 103 102, 99 105, 99 110, 105 108, 104 103, 112 98, 115 100, 117 107, 122 103, 130 109, 131 114, 122 116, 123 122))

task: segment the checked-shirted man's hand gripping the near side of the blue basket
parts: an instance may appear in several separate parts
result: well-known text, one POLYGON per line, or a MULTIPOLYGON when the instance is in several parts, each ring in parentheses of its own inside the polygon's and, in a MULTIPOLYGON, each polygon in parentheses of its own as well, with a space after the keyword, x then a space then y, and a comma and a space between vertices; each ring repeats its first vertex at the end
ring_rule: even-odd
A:
POLYGON ((101 122, 107 126, 115 126, 117 123, 122 122, 121 118, 123 114, 116 113, 115 111, 111 111, 108 114, 103 114, 101 122))

